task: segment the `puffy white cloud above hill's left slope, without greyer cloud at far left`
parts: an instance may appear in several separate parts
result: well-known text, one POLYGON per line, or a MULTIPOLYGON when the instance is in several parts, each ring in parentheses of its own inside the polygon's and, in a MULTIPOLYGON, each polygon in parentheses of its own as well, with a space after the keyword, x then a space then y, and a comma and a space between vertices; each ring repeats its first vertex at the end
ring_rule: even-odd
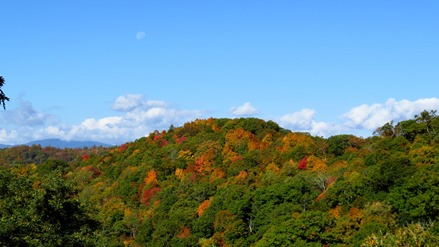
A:
MULTIPOLYGON (((109 144, 132 141, 158 129, 167 129, 171 124, 182 125, 201 117, 197 110, 170 108, 163 101, 145 100, 143 95, 124 95, 116 99, 113 109, 122 110, 119 116, 101 119, 86 119, 72 126, 61 138, 86 140, 88 138, 109 144)), ((53 130, 52 130, 53 132, 53 130)))

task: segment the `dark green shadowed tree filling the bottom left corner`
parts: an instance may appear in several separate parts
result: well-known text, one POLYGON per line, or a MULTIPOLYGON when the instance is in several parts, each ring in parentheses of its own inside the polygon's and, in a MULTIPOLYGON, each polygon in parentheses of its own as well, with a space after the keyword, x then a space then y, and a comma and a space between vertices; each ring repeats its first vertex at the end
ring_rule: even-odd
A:
POLYGON ((62 177, 0 169, 1 246, 94 246, 97 227, 62 177))

